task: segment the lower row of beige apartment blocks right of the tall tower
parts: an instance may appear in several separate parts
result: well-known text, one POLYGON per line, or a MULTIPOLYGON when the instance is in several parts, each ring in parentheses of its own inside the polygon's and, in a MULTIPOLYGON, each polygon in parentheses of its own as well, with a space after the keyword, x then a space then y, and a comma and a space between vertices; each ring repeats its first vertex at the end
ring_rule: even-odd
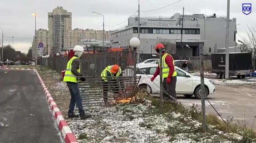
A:
MULTIPOLYGON (((110 32, 104 32, 104 39, 109 40, 110 32)), ((64 48, 74 47, 78 45, 78 43, 83 42, 84 39, 95 39, 95 40, 103 40, 103 30, 92 30, 92 29, 74 29, 66 31, 66 39, 64 48)))

